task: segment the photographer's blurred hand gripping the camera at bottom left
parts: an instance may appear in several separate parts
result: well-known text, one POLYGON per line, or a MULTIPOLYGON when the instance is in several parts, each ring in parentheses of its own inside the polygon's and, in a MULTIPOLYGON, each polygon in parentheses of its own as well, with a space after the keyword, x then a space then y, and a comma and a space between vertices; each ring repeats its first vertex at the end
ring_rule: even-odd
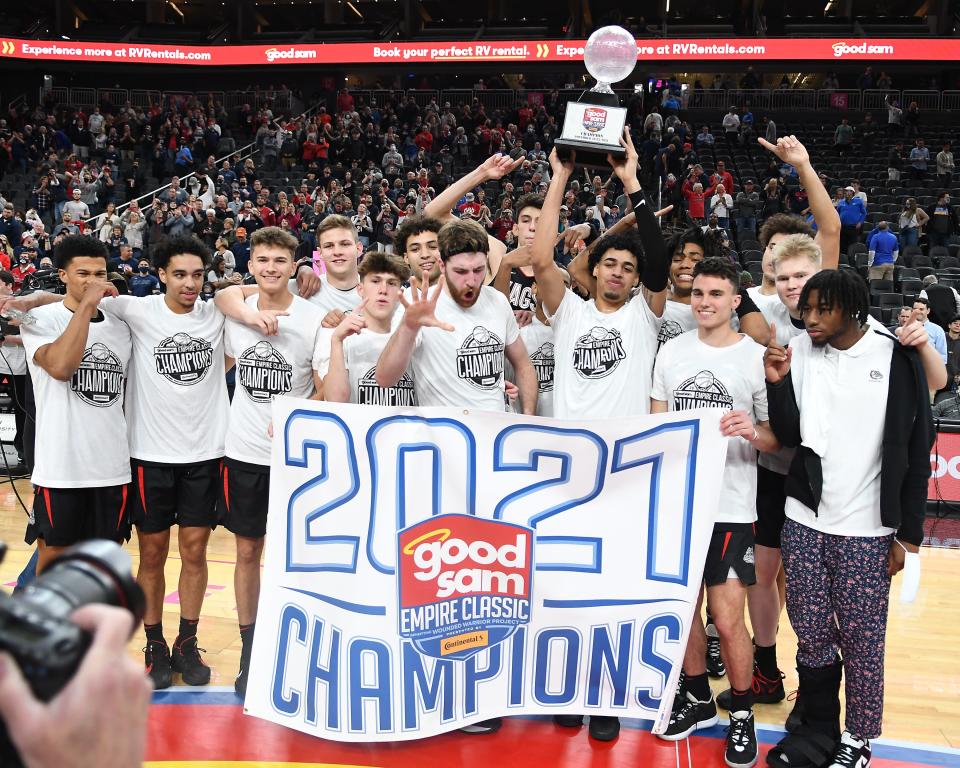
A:
POLYGON ((153 690, 126 652, 132 616, 88 605, 73 620, 93 635, 80 668, 49 703, 0 655, 0 717, 27 768, 133 768, 143 762, 153 690))

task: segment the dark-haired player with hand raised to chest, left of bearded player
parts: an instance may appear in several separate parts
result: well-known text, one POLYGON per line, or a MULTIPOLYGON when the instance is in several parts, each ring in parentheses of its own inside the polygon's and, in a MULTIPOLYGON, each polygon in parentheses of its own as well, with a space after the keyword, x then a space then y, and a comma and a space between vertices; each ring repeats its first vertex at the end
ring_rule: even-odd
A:
POLYGON ((367 253, 360 265, 362 303, 332 331, 317 340, 313 367, 322 379, 323 399, 358 405, 415 406, 413 377, 405 371, 396 385, 380 387, 377 360, 390 338, 390 324, 400 304, 410 269, 380 251, 367 253))

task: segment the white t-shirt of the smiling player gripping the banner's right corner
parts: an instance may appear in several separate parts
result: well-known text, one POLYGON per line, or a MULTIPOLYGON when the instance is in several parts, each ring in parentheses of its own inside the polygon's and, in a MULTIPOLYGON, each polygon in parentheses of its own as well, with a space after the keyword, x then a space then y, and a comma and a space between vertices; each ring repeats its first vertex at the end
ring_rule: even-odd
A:
MULTIPOLYGON (((671 411, 722 408, 746 411, 754 423, 767 420, 764 348, 749 336, 729 347, 704 344, 688 331, 657 355, 651 397, 671 411)), ((716 522, 752 523, 757 519, 757 451, 742 437, 727 438, 716 522)))

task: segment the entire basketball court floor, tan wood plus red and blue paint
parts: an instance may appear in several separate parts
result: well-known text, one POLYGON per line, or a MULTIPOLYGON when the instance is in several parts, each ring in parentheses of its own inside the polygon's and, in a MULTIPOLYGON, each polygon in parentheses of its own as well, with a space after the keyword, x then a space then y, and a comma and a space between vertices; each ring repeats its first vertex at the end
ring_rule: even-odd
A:
MULTIPOLYGON (((18 481, 24 502, 32 502, 30 485, 18 481)), ((0 581, 9 590, 30 557, 23 543, 26 514, 9 484, 0 488, 0 537, 7 543, 0 581)), ((174 537, 175 538, 175 537, 174 537)), ((128 547, 136 568, 136 542, 128 547)), ((213 668, 211 685, 175 684, 154 694, 150 712, 147 766, 151 768, 233 768, 244 766, 352 766, 420 768, 421 766, 496 766, 496 768, 720 768, 724 722, 677 744, 649 733, 649 723, 625 721, 620 737, 593 742, 586 728, 559 728, 549 718, 511 718, 490 736, 461 733, 396 744, 340 744, 266 723, 243 714, 233 693, 240 658, 233 597, 233 541, 222 529, 211 537, 210 578, 200 621, 200 645, 213 668)), ((915 603, 899 602, 894 582, 887 631, 884 735, 874 743, 876 768, 954 766, 960 768, 960 549, 925 547, 923 578, 915 603)), ((164 627, 168 641, 176 634, 179 606, 176 550, 167 565, 164 627)), ((786 615, 778 656, 787 675, 787 691, 796 689, 792 659, 796 641, 786 615)), ((142 630, 129 653, 142 661, 142 630)), ((175 679, 177 677, 175 676, 175 679)), ((177 680, 177 682, 179 682, 177 680)), ((714 681, 714 688, 726 680, 714 681)), ((792 701, 758 705, 756 719, 761 752, 781 737, 792 701)), ((763 764, 761 758, 761 764, 763 764)))

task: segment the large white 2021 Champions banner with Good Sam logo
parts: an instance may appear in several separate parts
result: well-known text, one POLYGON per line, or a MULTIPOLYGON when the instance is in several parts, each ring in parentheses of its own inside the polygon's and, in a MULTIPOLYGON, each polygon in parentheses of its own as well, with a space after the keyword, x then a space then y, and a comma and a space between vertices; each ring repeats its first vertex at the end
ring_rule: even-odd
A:
POLYGON ((662 729, 721 415, 572 423, 278 398, 246 711, 337 741, 526 714, 662 729))

